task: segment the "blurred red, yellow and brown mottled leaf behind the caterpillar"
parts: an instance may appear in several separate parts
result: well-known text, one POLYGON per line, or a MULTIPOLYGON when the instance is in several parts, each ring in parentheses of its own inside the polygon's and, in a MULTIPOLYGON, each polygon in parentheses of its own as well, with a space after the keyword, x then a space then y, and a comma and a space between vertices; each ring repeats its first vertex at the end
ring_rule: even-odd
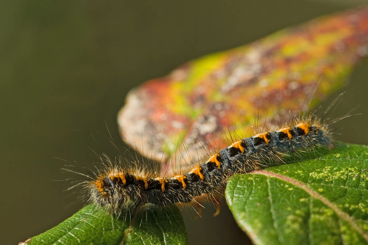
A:
POLYGON ((201 152, 226 147, 224 131, 244 137, 254 120, 272 128, 308 109, 312 97, 315 105, 342 86, 367 43, 361 8, 188 62, 130 92, 118 114, 121 136, 163 159, 162 173, 185 169, 201 152))

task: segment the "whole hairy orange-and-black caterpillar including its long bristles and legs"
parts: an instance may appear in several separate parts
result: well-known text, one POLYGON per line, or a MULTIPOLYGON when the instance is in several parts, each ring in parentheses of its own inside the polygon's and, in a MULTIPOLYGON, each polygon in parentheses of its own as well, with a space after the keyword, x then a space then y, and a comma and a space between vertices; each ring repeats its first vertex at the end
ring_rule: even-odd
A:
MULTIPOLYGON (((217 203, 227 180, 233 174, 284 164, 284 159, 290 156, 301 159, 314 152, 318 146, 332 147, 331 126, 352 116, 344 115, 333 120, 328 118, 341 97, 342 94, 322 114, 318 113, 320 108, 301 113, 298 117, 290 113, 289 119, 280 124, 279 129, 267 131, 263 123, 260 126, 262 130, 254 136, 235 140, 234 137, 239 136, 230 134, 231 143, 228 147, 212 154, 203 152, 208 157, 207 161, 193 164, 191 169, 180 167, 173 176, 160 176, 158 171, 148 169, 146 164, 138 161, 140 156, 135 156, 136 160, 131 162, 120 157, 98 156, 99 166, 95 165, 96 170, 90 174, 64 169, 87 179, 68 190, 82 187, 88 192, 90 202, 125 218, 150 207, 149 204, 164 208, 174 203, 187 203, 198 209, 203 207, 204 201, 217 203), (200 198, 202 196, 205 198, 200 198)), ((184 152, 177 154, 188 154, 187 148, 183 149, 184 152)), ((203 146, 199 145, 199 149, 203 149, 203 146)))

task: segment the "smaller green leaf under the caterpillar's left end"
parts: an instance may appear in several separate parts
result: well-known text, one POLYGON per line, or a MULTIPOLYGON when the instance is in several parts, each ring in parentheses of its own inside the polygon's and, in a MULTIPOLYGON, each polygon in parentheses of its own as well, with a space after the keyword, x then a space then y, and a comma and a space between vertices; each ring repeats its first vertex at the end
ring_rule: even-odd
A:
POLYGON ((187 232, 176 206, 113 217, 87 205, 58 226, 37 235, 30 244, 187 244, 187 232), (163 215, 164 214, 164 215, 163 215))

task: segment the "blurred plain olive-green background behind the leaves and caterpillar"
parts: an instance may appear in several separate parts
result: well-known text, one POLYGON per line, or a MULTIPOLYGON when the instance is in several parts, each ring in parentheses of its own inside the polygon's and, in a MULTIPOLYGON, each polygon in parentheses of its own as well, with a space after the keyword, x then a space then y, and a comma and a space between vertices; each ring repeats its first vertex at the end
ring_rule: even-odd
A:
MULTIPOLYGON (((7 1, 0 10, 1 244, 17 244, 83 206, 64 165, 77 169, 126 145, 116 114, 127 92, 177 65, 249 43, 364 1, 7 1), (106 125, 105 125, 106 122, 106 125), (66 161, 60 160, 64 159, 66 161), (54 181, 61 180, 61 181, 54 181)), ((339 140, 368 144, 368 61, 351 74, 339 140)), ((324 104, 328 104, 332 98, 324 104)), ((185 215, 191 244, 247 238, 223 204, 219 217, 185 215)))

